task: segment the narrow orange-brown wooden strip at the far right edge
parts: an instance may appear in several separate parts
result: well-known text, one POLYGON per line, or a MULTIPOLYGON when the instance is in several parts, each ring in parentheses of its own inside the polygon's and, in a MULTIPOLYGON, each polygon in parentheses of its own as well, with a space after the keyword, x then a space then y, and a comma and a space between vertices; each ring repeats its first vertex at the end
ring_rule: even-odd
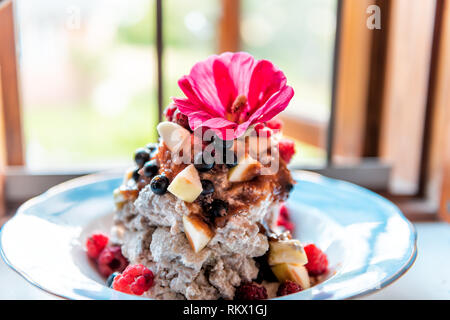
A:
POLYGON ((435 39, 430 72, 426 153, 421 194, 438 203, 439 217, 450 222, 450 3, 436 4, 435 39))

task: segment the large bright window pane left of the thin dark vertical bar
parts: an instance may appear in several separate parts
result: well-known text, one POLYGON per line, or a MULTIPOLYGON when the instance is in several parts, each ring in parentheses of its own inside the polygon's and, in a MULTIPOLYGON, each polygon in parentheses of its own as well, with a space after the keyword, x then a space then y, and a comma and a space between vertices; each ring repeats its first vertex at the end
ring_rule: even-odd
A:
POLYGON ((118 164, 154 140, 154 1, 16 2, 31 167, 118 164))

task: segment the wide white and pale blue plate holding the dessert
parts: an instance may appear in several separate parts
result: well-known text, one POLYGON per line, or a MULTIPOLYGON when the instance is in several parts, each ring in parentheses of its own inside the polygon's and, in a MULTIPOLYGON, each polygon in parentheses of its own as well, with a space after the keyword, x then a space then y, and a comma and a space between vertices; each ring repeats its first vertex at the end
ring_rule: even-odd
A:
MULTIPOLYGON (((413 264, 416 233, 388 200, 353 184, 300 172, 288 201, 296 237, 324 249, 328 279, 278 299, 345 299, 381 289, 413 264)), ((121 177, 72 180, 26 202, 2 228, 5 262, 37 287, 69 299, 141 299, 109 289, 87 259, 93 231, 109 231, 121 177)))

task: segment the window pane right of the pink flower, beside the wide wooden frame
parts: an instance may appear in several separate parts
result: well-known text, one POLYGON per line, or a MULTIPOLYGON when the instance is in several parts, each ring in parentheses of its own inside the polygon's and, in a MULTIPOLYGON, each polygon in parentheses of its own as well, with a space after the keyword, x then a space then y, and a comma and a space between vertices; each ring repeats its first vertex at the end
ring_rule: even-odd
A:
MULTIPOLYGON (((259 59, 271 60, 294 88, 286 115, 328 122, 336 5, 336 0, 242 1, 243 49, 259 59)), ((319 164, 325 160, 323 148, 301 143, 299 150, 296 164, 319 164)))

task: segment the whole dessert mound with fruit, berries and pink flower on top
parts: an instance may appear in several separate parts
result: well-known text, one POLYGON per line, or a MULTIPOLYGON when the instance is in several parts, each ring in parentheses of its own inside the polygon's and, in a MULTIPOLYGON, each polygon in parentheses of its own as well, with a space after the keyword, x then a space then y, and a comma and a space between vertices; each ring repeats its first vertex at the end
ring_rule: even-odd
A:
POLYGON ((114 290, 154 299, 256 300, 320 281, 325 253, 292 237, 285 206, 295 154, 277 115, 294 95, 270 61, 214 55, 178 82, 114 191, 110 237, 87 253, 114 290))

